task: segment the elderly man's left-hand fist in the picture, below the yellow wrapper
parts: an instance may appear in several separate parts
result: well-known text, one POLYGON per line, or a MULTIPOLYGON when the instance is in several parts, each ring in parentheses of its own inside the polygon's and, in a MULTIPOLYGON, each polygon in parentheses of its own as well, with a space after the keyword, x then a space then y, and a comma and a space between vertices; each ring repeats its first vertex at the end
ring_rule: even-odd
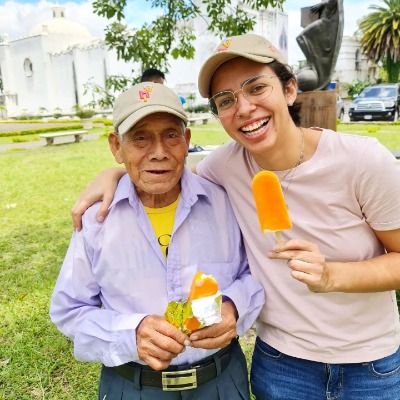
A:
POLYGON ((139 358, 149 367, 162 370, 171 360, 185 350, 188 337, 164 317, 149 315, 136 328, 139 358))

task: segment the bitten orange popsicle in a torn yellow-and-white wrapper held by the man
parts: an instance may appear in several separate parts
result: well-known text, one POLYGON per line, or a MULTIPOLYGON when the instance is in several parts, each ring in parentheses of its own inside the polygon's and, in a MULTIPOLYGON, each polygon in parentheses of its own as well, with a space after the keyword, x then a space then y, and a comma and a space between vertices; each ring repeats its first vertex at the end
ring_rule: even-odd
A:
POLYGON ((165 318, 182 332, 193 331, 222 321, 222 295, 212 275, 197 272, 185 301, 170 301, 165 318))

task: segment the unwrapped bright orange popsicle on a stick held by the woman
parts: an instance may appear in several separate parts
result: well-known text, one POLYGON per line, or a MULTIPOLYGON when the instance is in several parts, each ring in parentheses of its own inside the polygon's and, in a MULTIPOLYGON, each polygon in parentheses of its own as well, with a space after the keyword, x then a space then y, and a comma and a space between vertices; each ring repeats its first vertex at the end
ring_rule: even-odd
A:
POLYGON ((279 178, 271 171, 260 171, 253 177, 253 196, 263 232, 274 232, 281 240, 280 231, 292 228, 289 212, 279 178))

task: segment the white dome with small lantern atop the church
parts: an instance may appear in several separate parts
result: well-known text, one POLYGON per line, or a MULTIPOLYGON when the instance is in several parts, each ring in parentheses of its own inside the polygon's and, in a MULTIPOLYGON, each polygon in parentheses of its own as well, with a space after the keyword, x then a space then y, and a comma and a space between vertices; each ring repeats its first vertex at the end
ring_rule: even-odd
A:
POLYGON ((31 30, 30 36, 56 34, 80 37, 82 39, 92 38, 92 35, 85 26, 65 18, 64 7, 52 7, 52 12, 53 18, 37 24, 31 30))

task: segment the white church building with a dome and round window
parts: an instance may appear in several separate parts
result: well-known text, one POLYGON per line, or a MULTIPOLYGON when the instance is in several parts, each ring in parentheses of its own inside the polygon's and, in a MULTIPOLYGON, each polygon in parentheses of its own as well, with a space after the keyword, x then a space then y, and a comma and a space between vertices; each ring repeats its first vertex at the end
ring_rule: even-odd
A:
POLYGON ((0 105, 7 116, 72 114, 92 100, 90 80, 104 86, 108 75, 129 75, 133 65, 118 62, 102 40, 52 7, 52 18, 29 36, 9 41, 0 36, 0 105))

